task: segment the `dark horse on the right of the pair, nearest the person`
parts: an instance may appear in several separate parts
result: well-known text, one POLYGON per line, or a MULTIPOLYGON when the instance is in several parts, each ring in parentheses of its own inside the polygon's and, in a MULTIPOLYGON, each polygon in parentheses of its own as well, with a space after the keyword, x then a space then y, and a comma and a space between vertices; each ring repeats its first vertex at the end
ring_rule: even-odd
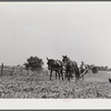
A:
POLYGON ((75 61, 70 60, 67 56, 62 56, 63 65, 65 65, 65 77, 70 81, 71 78, 73 78, 73 74, 75 74, 75 80, 80 79, 80 71, 78 68, 78 63, 75 61))

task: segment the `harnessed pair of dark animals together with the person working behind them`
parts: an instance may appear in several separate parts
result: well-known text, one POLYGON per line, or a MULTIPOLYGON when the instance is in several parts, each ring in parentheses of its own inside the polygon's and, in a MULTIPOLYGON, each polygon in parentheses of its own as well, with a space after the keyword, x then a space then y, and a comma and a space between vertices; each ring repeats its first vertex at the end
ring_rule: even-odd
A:
POLYGON ((67 56, 62 56, 62 61, 48 58, 47 60, 48 69, 50 70, 50 80, 52 79, 53 71, 56 72, 56 79, 59 75, 59 79, 67 79, 69 81, 73 79, 73 77, 75 77, 75 81, 79 79, 83 80, 84 74, 88 72, 88 68, 83 62, 79 68, 78 63, 75 61, 70 60, 70 58, 68 58, 67 56))

